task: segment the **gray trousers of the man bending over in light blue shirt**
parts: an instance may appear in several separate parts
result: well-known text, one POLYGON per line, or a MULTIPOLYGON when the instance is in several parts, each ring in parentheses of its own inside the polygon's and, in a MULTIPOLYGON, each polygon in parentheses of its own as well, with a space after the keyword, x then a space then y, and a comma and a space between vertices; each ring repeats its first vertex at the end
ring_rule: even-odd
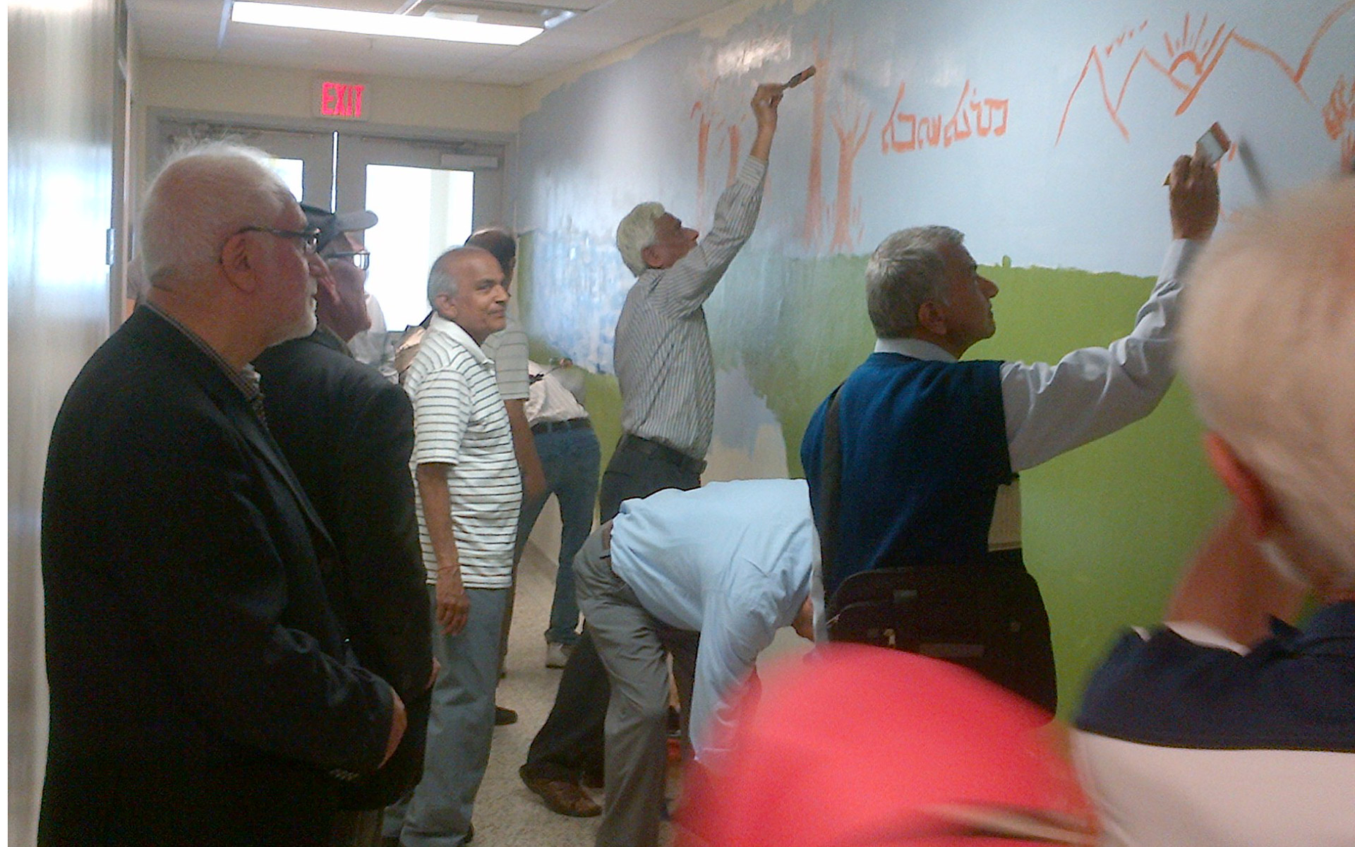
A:
MULTIPOLYGON (((579 608, 611 680, 598 847, 654 847, 668 764, 668 652, 692 663, 694 633, 657 621, 611 569, 599 527, 575 558, 579 608)), ((684 691, 684 714, 690 711, 684 691)))

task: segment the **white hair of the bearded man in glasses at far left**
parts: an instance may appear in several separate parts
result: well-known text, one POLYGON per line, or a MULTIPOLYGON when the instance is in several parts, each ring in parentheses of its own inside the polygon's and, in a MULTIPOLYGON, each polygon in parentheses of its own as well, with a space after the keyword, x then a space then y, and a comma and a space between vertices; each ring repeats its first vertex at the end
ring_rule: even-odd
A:
POLYGON ((271 226, 291 192, 263 150, 229 141, 195 142, 161 165, 141 205, 137 259, 146 285, 191 281, 217 264, 244 226, 271 226))

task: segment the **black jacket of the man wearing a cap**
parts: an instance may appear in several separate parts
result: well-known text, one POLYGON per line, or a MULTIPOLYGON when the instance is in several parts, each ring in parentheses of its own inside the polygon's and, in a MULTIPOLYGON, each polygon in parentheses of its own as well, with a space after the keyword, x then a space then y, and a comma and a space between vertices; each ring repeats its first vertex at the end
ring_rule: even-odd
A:
POLYGON ((409 453, 413 407, 404 389, 355 360, 321 327, 256 360, 268 428, 339 550, 325 585, 363 667, 409 707, 401 749, 377 786, 348 804, 379 808, 423 774, 432 675, 409 453))

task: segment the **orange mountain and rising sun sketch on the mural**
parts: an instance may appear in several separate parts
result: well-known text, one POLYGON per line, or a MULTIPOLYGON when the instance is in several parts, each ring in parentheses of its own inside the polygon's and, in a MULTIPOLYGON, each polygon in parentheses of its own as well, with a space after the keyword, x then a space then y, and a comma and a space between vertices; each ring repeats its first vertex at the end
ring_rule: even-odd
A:
MULTIPOLYGON (((1352 9, 1355 9, 1355 0, 1347 0, 1332 9, 1317 24, 1306 49, 1298 61, 1293 64, 1286 61, 1279 50, 1267 46, 1264 38, 1244 35, 1238 33, 1237 27, 1228 23, 1211 27, 1207 14, 1196 16, 1199 23, 1194 24, 1191 14, 1187 12, 1179 30, 1164 30, 1161 33, 1161 45, 1154 38, 1150 22, 1144 20, 1137 27, 1121 33, 1104 46, 1093 46, 1091 49, 1087 64, 1083 65, 1081 75, 1079 75, 1077 81, 1073 84, 1072 94, 1068 95, 1068 104, 1064 107, 1062 118, 1058 122, 1058 136, 1054 138, 1054 144, 1058 144, 1064 137, 1068 111, 1072 108, 1073 100, 1079 94, 1093 96, 1091 85, 1087 89, 1083 88, 1092 70, 1095 70, 1106 114, 1121 136, 1129 141, 1130 129, 1121 117, 1121 107, 1125 103, 1125 95, 1129 92, 1130 85, 1135 81, 1135 72, 1148 73, 1149 76, 1156 73, 1160 79, 1165 79, 1180 96, 1175 114, 1184 115, 1191 108, 1191 104, 1195 103, 1201 91, 1215 76, 1220 79, 1214 84, 1225 88, 1237 84, 1236 77, 1229 73, 1229 66, 1224 61, 1229 54, 1229 47, 1232 47, 1234 56, 1238 51, 1251 51, 1270 60, 1279 77, 1290 83, 1294 94, 1304 102, 1313 104, 1314 98, 1309 95, 1305 87, 1305 79, 1308 77, 1313 57, 1322 39, 1332 34, 1333 27, 1337 26, 1343 16, 1352 14, 1352 9), (1129 53, 1137 43, 1144 43, 1144 46, 1129 53)), ((1343 34, 1346 33, 1337 30, 1335 37, 1340 39, 1343 34)), ((1249 87, 1259 88, 1260 85, 1253 81, 1249 87)), ((1283 87, 1280 85, 1279 88, 1283 87)), ((1351 153, 1355 149, 1355 136, 1346 129, 1352 115, 1351 99, 1344 88, 1346 79, 1343 76, 1337 77, 1331 99, 1321 107, 1321 119, 1328 136, 1340 145, 1341 168, 1348 171, 1351 167, 1351 153)), ((1164 98, 1164 106, 1169 104, 1171 98, 1164 98)))

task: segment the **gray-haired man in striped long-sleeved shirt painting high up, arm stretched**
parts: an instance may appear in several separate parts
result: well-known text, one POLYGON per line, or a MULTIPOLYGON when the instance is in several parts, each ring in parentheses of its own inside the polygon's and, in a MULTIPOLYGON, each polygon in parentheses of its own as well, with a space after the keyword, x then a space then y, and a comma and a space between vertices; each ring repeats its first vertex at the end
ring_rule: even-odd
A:
MULTIPOLYGON (((617 321, 622 436, 603 472, 603 522, 622 500, 701 485, 715 420, 715 366, 702 306, 757 222, 783 88, 764 83, 753 94, 757 134, 705 239, 659 203, 640 203, 617 226, 617 248, 635 283, 617 321)), ((694 656, 692 637, 675 655, 679 668, 688 668, 682 672, 690 672, 694 656)), ((527 787, 562 814, 598 813, 577 782, 581 771, 600 777, 607 702, 607 676, 585 629, 520 770, 527 787)))

